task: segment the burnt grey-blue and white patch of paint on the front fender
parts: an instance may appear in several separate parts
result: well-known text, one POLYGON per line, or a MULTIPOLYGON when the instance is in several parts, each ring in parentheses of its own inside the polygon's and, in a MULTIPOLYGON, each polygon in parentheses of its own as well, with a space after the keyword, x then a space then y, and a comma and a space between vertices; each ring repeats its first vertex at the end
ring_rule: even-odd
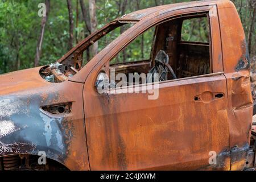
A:
POLYGON ((65 133, 68 121, 40 110, 42 105, 52 103, 56 93, 48 94, 47 100, 42 97, 38 93, 0 97, 0 156, 45 151, 47 158, 64 163, 72 139, 65 133))

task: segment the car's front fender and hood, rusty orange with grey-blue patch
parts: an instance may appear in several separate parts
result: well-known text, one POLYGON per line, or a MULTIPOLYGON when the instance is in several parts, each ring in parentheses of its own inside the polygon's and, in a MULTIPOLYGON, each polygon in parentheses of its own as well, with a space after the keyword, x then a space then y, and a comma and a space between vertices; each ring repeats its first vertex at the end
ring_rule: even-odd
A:
POLYGON ((42 150, 47 152, 48 158, 69 169, 89 170, 81 101, 83 85, 69 81, 57 84, 47 82, 38 74, 39 69, 40 67, 0 76, 1 121, 14 122, 17 127, 15 133, 20 136, 18 139, 15 135, 10 136, 13 137, 11 143, 7 143, 9 140, 5 142, 5 138, 1 136, 0 155, 37 155, 38 150, 42 150), (72 113, 61 117, 42 114, 40 107, 67 101, 72 102, 72 113), (59 136, 59 142, 54 140, 56 136, 59 136), (49 143, 44 146, 44 142, 40 140, 46 139, 49 143))

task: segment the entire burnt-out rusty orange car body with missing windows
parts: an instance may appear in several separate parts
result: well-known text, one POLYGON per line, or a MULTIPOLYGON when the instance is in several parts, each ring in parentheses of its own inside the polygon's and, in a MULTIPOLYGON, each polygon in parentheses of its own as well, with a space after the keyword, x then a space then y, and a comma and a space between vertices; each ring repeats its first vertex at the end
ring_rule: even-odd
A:
POLYGON ((135 11, 94 32, 57 63, 64 66, 0 76, 1 169, 18 169, 20 160, 33 169, 31 159, 39 151, 45 151, 52 162, 48 169, 56 163, 71 170, 241 170, 254 166, 249 54, 231 1, 186 2, 135 11), (156 100, 148 100, 148 93, 97 92, 98 74, 109 74, 109 61, 138 35, 158 27, 153 61, 112 67, 126 72, 150 69, 162 49, 162 35, 169 30, 162 23, 170 21, 177 28, 184 18, 197 16, 209 20, 209 44, 177 40, 169 45, 172 51, 166 52, 178 75, 174 57, 196 60, 184 50, 193 47, 204 52, 207 47, 209 56, 201 60, 209 60, 209 72, 159 82, 156 100), (134 25, 82 67, 81 53, 124 23, 134 25), (177 56, 178 49, 181 56, 177 56), (48 75, 56 81, 47 81, 48 75), (210 151, 216 151, 215 164, 209 164, 210 151))

